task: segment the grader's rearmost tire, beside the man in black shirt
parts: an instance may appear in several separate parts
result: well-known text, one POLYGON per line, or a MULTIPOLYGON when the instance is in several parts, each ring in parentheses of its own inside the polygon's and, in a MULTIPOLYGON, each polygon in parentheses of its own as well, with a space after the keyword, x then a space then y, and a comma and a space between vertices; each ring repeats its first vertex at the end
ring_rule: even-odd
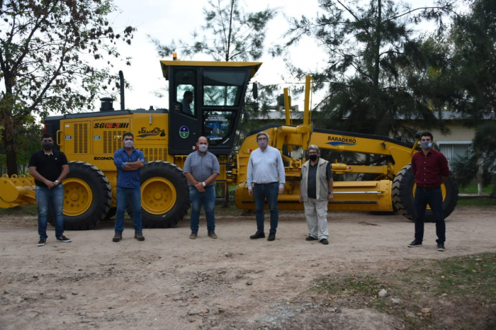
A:
MULTIPOLYGON (((102 220, 111 207, 111 184, 105 174, 83 161, 70 161, 64 185, 64 229, 86 230, 102 220)), ((53 224, 53 216, 50 217, 53 224)))

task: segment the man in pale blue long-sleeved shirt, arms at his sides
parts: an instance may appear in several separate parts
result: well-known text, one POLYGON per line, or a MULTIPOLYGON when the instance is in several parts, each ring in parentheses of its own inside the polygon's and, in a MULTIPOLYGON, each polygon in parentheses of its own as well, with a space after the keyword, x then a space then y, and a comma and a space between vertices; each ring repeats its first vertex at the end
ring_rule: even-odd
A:
POLYGON ((277 196, 284 191, 286 173, 284 173, 283 158, 278 149, 269 146, 269 135, 266 132, 257 134, 259 149, 249 156, 247 185, 248 193, 254 196, 255 217, 257 218, 257 233, 250 239, 261 239, 264 233, 265 199, 271 211, 271 230, 268 241, 276 239, 279 212, 277 210, 277 196))

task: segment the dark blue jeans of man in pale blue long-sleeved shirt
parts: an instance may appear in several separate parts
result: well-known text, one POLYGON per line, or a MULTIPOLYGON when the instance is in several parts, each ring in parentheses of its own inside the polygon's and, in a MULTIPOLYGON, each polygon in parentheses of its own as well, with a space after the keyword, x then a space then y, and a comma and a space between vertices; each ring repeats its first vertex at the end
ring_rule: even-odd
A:
POLYGON ((255 184, 253 197, 255 199, 255 217, 257 218, 257 230, 264 232, 264 207, 265 199, 271 211, 271 233, 276 234, 279 212, 277 210, 277 196, 279 194, 279 183, 255 184))

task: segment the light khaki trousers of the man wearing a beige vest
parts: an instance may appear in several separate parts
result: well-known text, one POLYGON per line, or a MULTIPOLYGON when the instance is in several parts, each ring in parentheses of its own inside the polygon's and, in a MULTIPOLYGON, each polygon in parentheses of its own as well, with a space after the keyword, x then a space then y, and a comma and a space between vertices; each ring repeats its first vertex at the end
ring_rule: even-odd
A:
POLYGON ((307 218, 308 234, 314 239, 327 239, 329 229, 327 229, 327 200, 316 200, 308 198, 305 205, 305 217, 307 218))

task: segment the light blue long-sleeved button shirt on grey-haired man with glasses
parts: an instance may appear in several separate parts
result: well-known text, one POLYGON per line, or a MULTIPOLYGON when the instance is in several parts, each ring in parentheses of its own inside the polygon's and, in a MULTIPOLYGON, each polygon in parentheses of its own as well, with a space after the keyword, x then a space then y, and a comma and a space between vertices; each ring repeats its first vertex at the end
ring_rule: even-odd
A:
POLYGON ((252 183, 279 182, 279 188, 284 188, 286 174, 284 173, 283 157, 278 149, 267 146, 264 152, 256 149, 249 156, 247 183, 252 189, 252 183))

